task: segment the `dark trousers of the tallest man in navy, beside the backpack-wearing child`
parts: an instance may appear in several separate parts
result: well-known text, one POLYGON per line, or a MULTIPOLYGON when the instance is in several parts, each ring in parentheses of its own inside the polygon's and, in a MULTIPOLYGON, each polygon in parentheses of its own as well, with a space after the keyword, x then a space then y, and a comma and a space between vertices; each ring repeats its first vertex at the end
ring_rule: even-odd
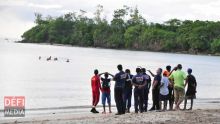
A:
POLYGON ((123 100, 123 88, 115 87, 115 103, 119 114, 125 113, 124 100, 123 100))

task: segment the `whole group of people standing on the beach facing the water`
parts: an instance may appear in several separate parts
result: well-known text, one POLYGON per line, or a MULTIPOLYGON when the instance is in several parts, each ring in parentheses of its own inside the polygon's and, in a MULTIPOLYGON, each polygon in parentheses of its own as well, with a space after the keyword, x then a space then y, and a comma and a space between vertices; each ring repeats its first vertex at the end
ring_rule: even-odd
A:
POLYGON ((130 112, 132 90, 134 95, 134 109, 135 113, 142 113, 148 111, 148 95, 150 88, 152 89, 153 105, 149 111, 159 110, 166 111, 167 103, 169 102, 169 109, 173 110, 175 103, 175 110, 180 109, 180 104, 184 102, 184 110, 186 110, 187 99, 191 99, 191 107, 193 107, 193 99, 196 97, 197 82, 192 75, 192 69, 188 69, 185 74, 182 71, 182 65, 178 64, 171 70, 171 66, 166 66, 166 70, 158 68, 156 74, 147 70, 151 76, 146 73, 146 69, 142 67, 136 68, 136 74, 132 75, 129 69, 123 71, 122 65, 117 66, 118 73, 112 75, 108 72, 100 73, 97 69, 94 70, 94 76, 91 79, 92 86, 92 113, 99 113, 96 106, 99 102, 100 91, 102 93, 103 114, 106 113, 106 100, 111 113, 111 81, 115 81, 114 98, 117 108, 116 115, 130 112), (104 75, 104 77, 102 76, 104 75), (109 77, 111 76, 111 78, 109 77), (185 83, 184 83, 185 82, 185 83), (185 93, 185 87, 187 91, 185 93), (134 88, 134 89, 133 89, 134 88), (163 107, 162 107, 163 103, 163 107))

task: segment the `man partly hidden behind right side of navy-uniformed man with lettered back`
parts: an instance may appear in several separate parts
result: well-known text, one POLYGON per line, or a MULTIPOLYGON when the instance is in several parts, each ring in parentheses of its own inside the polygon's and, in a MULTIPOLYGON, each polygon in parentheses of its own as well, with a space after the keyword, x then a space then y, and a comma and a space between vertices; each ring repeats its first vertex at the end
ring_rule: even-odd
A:
POLYGON ((147 84, 144 87, 144 112, 147 112, 148 107, 148 94, 151 87, 151 78, 148 74, 146 74, 146 69, 141 69, 142 75, 145 77, 147 84))

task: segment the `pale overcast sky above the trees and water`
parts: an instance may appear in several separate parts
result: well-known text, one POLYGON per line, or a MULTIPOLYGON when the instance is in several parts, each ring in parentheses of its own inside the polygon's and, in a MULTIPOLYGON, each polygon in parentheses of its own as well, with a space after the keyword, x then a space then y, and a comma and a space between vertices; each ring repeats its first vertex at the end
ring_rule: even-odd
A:
POLYGON ((34 13, 59 16, 80 9, 92 17, 96 6, 104 6, 104 15, 112 18, 123 5, 137 6, 148 22, 181 20, 220 20, 220 0, 0 0, 0 38, 19 38, 33 27, 34 13))

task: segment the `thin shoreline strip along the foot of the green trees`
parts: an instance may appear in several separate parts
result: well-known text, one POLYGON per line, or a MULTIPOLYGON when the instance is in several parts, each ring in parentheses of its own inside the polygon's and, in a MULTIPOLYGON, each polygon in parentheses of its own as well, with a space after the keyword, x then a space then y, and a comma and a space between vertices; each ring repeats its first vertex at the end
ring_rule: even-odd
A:
MULTIPOLYGON (((15 41, 15 43, 24 43, 21 41, 15 41)), ((29 43, 29 42, 26 42, 29 43)), ((38 44, 38 45, 51 45, 51 46, 64 46, 64 47, 79 47, 79 48, 95 48, 95 49, 109 49, 109 50, 127 50, 127 51, 138 51, 138 52, 155 52, 155 53, 170 53, 170 54, 184 54, 184 55, 201 55, 201 56, 220 56, 220 53, 210 54, 210 53, 190 53, 187 51, 179 51, 179 52, 168 52, 168 51, 151 51, 151 50, 136 50, 136 49, 120 49, 120 48, 105 48, 105 47, 93 47, 93 46, 78 46, 78 45, 70 45, 70 44, 57 44, 57 43, 29 43, 29 44, 38 44)))

